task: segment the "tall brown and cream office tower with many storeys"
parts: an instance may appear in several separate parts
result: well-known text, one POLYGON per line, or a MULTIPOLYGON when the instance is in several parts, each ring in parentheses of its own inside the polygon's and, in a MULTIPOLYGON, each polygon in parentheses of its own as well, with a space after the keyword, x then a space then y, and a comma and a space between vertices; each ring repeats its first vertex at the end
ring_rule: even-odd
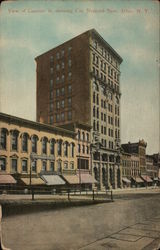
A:
POLYGON ((36 57, 37 121, 91 129, 92 171, 98 187, 120 187, 120 64, 95 29, 36 57))

